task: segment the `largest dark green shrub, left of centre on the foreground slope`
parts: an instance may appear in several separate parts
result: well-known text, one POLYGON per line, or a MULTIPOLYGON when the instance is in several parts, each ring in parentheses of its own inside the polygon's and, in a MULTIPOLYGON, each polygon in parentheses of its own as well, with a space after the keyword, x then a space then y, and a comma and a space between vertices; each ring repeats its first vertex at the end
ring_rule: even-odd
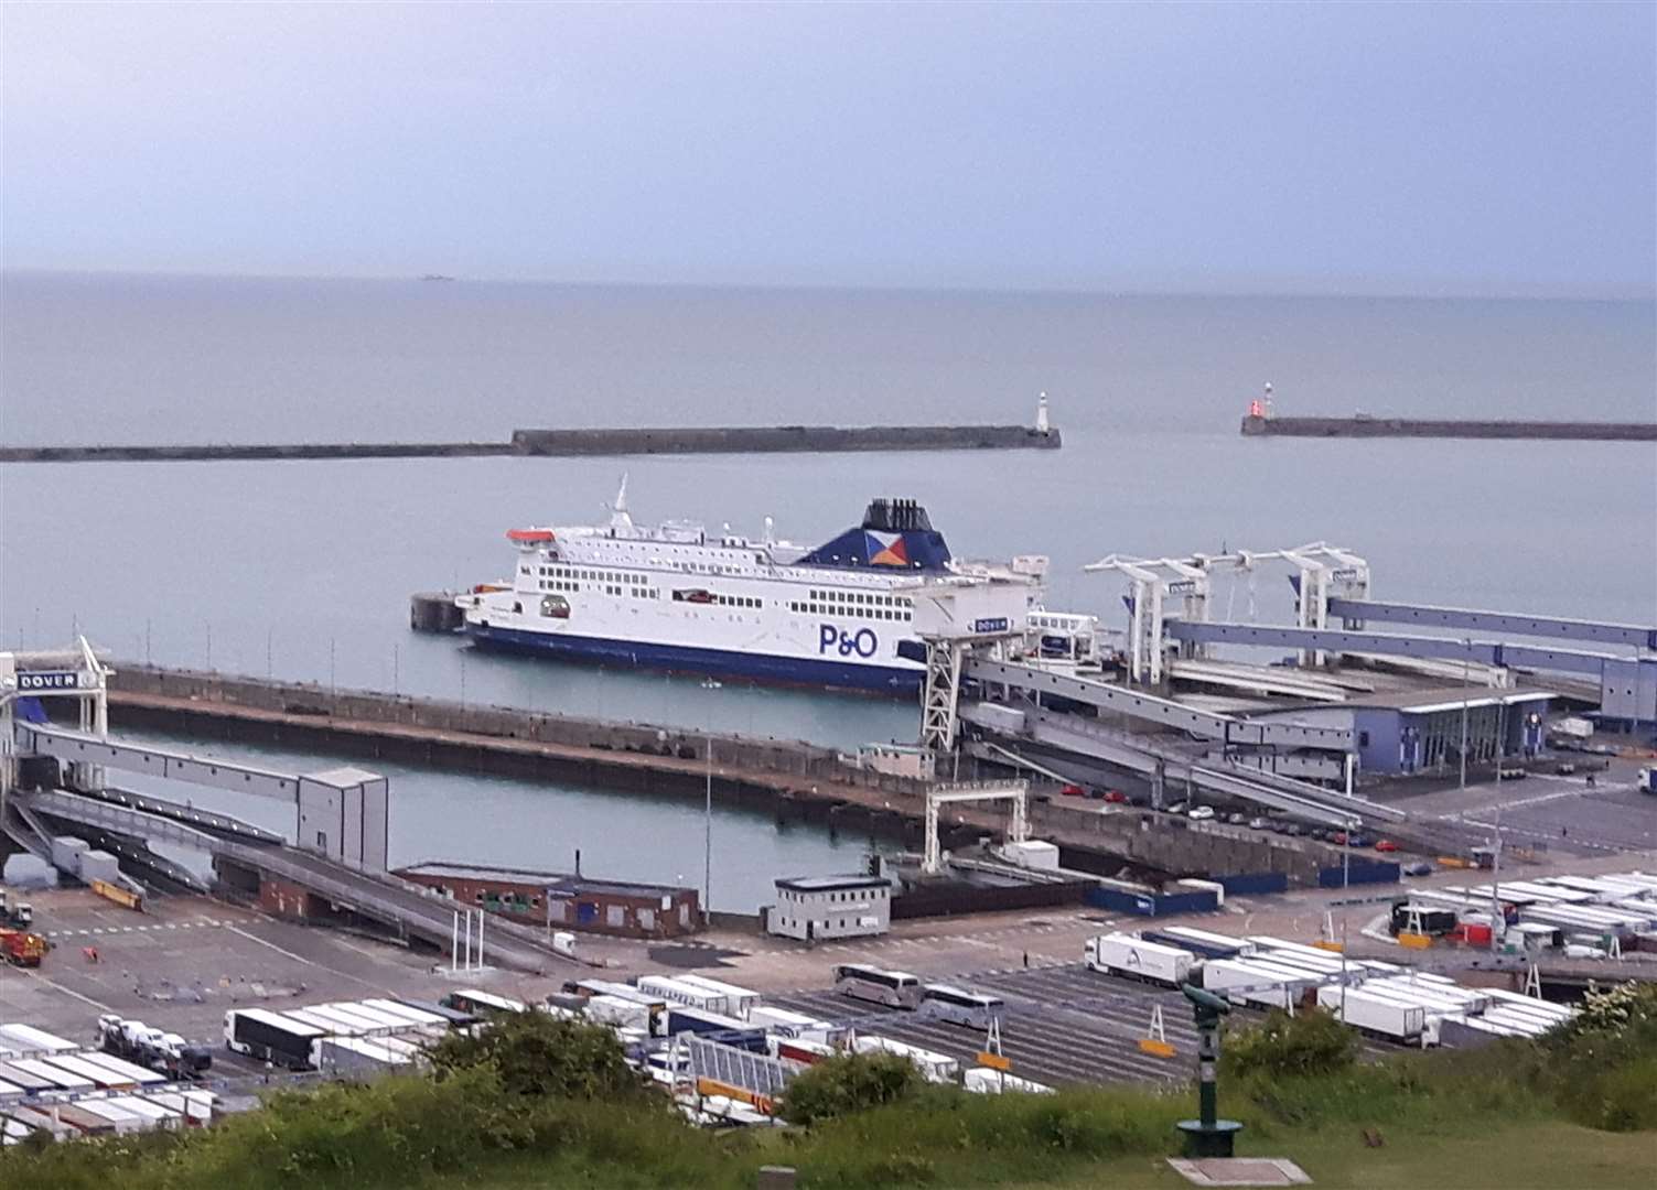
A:
POLYGON ((451 1033, 429 1053, 439 1077, 487 1066, 510 1096, 613 1101, 635 1099, 645 1086, 615 1033, 552 1013, 515 1013, 476 1034, 451 1033))

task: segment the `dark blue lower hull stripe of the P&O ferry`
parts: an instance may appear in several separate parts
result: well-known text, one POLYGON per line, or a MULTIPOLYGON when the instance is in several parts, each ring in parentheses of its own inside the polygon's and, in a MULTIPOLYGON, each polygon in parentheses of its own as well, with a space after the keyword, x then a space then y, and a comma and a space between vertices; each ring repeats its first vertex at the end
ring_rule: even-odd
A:
POLYGON ((845 662, 819 660, 815 657, 772 657, 729 649, 691 649, 686 645, 525 632, 522 629, 477 624, 467 624, 466 632, 484 647, 547 654, 567 660, 643 665, 648 669, 669 669, 787 685, 878 690, 893 695, 913 695, 921 689, 921 674, 918 670, 883 665, 847 665, 845 662))

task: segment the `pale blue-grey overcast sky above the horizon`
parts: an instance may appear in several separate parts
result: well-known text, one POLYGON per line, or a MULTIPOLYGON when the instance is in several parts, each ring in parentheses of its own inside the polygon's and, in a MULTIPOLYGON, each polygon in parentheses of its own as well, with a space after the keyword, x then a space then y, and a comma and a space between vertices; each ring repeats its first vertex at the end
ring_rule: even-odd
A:
POLYGON ((1650 293, 1657 5, 0 5, 12 268, 1650 293))

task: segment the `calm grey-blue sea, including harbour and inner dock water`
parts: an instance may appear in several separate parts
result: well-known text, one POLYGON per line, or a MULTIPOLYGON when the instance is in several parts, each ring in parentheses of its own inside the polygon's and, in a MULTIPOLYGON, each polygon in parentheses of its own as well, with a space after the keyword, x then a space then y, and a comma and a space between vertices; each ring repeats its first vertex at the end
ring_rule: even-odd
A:
MULTIPOLYGON (((623 477, 636 520, 757 535, 769 516, 802 545, 911 497, 958 556, 1046 554, 1049 606, 1107 627, 1125 624, 1122 583, 1090 561, 1311 541, 1369 559, 1377 597, 1657 616, 1657 445, 1243 439, 1268 382, 1279 414, 1654 420, 1657 303, 0 273, 3 444, 1029 424, 1039 392, 1064 435, 1057 452, 3 465, 0 647, 85 632, 118 664, 847 748, 913 738, 906 703, 409 631, 411 593, 509 574, 509 528, 598 521, 623 477)), ((1261 571, 1220 581, 1216 612, 1281 621, 1291 597, 1261 571)), ((618 876, 701 871, 683 808, 428 778, 399 773, 423 789, 393 828, 406 857, 562 869, 587 841, 618 876), (494 829, 451 831, 477 806, 494 829)), ((716 814, 716 836, 757 837, 739 826, 774 833, 716 814)), ((782 851, 732 846, 713 904, 853 864, 845 841, 792 831, 782 851)))

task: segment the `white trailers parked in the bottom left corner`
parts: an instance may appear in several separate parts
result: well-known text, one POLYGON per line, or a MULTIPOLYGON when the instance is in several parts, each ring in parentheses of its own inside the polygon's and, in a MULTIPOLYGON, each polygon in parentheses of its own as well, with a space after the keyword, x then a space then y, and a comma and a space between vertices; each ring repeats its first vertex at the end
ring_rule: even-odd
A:
POLYGON ((31 1024, 0 1024, 0 1144, 207 1124, 212 1092, 31 1024))

